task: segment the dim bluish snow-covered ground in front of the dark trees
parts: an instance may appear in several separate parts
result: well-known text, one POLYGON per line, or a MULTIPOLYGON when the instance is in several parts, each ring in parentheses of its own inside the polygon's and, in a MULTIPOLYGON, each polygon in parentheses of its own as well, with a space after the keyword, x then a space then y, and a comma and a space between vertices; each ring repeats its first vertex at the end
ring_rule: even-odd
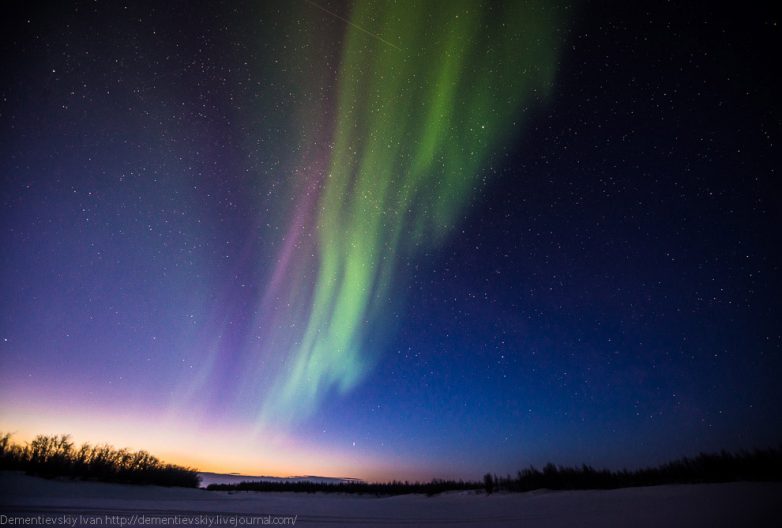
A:
POLYGON ((782 526, 782 484, 368 497, 49 481, 0 472, 0 525, 51 526, 782 526))

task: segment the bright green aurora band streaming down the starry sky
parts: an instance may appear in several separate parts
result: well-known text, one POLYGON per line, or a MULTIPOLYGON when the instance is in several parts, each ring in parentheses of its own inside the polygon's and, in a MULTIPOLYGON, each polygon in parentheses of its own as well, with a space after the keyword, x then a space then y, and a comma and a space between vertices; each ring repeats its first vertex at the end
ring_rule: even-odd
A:
POLYGON ((399 302, 403 263, 442 244, 492 153, 550 90, 562 15, 545 1, 353 5, 308 316, 281 351, 261 424, 306 418, 371 370, 381 346, 370 336, 399 302))

